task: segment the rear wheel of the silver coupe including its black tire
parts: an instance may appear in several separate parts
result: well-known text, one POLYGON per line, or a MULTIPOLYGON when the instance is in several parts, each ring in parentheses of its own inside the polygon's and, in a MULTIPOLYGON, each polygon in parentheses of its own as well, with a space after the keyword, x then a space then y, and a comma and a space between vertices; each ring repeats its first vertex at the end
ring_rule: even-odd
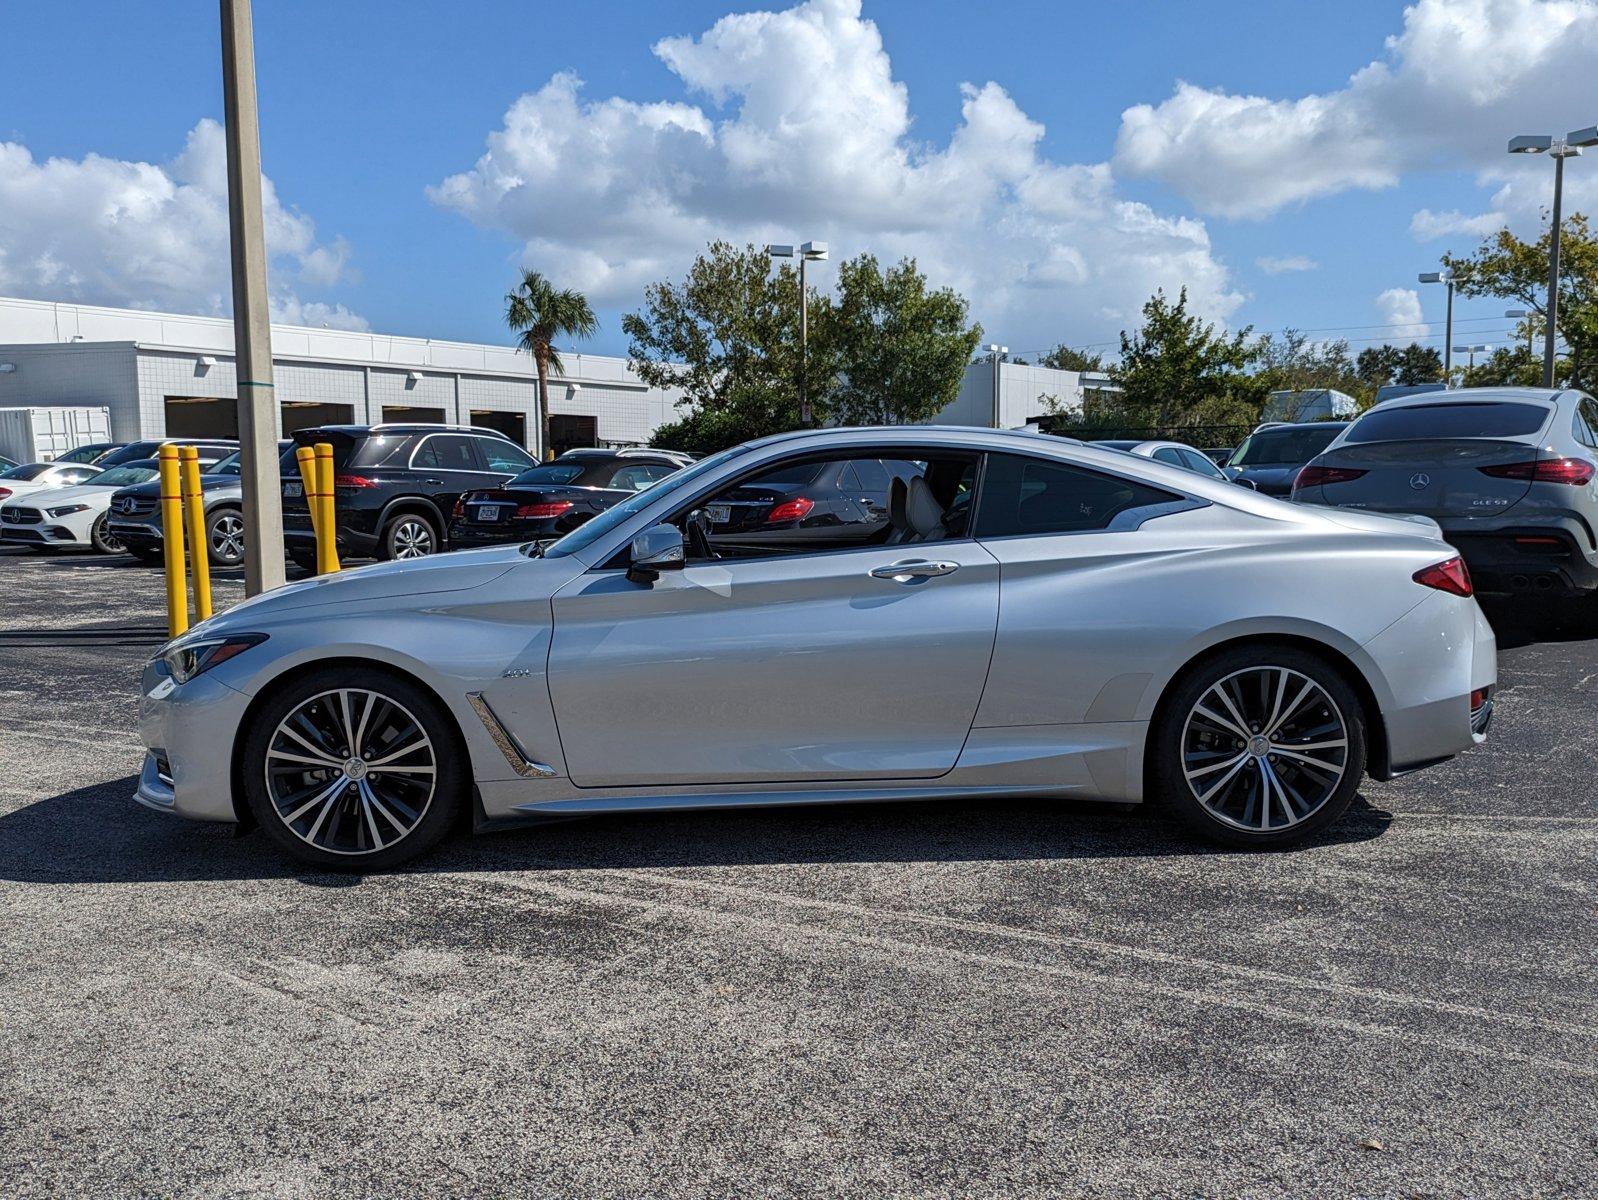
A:
POLYGON ((1365 778, 1358 695, 1330 662, 1294 646, 1242 646, 1200 662, 1165 697, 1152 737, 1152 799, 1222 845, 1312 837, 1342 817, 1365 778))

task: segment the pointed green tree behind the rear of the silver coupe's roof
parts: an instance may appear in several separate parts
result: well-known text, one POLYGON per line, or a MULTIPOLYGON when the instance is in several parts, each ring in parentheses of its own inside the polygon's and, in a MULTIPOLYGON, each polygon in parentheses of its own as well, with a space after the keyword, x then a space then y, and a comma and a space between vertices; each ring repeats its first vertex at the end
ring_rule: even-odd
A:
POLYGON ((1175 304, 1159 291, 1143 305, 1143 328, 1120 336, 1120 361, 1111 368, 1120 395, 1085 409, 1093 409, 1090 417, 1160 430, 1251 423, 1264 390, 1246 372, 1256 356, 1250 334, 1251 328, 1216 332, 1189 313, 1186 288, 1175 304))

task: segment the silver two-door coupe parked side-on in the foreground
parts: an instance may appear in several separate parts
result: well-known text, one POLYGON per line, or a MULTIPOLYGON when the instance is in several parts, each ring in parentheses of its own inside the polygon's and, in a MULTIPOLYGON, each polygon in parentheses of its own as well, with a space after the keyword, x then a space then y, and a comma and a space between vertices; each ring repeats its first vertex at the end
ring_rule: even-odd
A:
POLYGON ((1160 797, 1272 847, 1481 740, 1494 682, 1429 523, 1026 433, 839 428, 706 457, 553 543, 219 614, 145 668, 136 794, 358 871, 468 813, 1000 794, 1160 797), (695 532, 772 479, 890 462, 914 470, 885 519, 695 532))

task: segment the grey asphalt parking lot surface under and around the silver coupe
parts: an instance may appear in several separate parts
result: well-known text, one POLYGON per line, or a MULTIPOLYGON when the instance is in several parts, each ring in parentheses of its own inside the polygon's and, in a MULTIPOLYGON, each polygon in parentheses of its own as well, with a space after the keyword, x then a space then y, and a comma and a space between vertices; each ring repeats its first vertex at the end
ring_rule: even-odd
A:
POLYGON ((363 879, 134 805, 160 574, 3 554, 0 1190, 1593 1195, 1598 617, 1493 617, 1489 745, 1296 852, 896 805, 363 879))

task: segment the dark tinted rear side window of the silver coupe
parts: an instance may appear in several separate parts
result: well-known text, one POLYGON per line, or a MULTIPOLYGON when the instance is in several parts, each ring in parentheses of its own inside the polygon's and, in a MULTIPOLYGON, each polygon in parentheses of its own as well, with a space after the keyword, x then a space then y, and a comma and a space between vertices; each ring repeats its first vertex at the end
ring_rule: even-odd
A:
POLYGON ((989 454, 976 537, 1109 529, 1125 513, 1179 499, 1159 487, 1063 462, 989 454))

